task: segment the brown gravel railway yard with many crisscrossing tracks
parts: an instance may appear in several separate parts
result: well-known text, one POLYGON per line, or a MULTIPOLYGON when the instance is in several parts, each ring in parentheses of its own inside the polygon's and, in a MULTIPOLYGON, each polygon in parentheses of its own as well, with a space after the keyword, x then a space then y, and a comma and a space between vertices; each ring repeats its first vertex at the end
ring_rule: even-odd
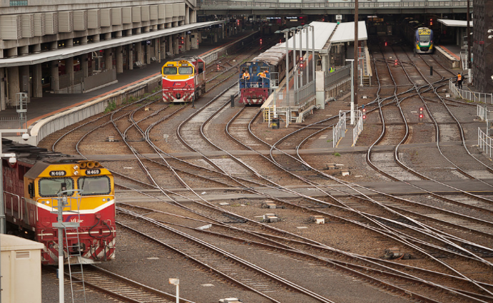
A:
MULTIPOLYGON (((116 260, 84 267, 88 302, 175 302, 168 278, 181 302, 493 302, 477 104, 446 97, 456 73, 436 55, 369 42, 355 147, 332 147, 349 92, 288 128, 230 106, 258 48, 211 64, 195 108, 158 90, 44 138, 115 178, 116 260)), ((43 280, 53 302, 56 274, 43 280)))

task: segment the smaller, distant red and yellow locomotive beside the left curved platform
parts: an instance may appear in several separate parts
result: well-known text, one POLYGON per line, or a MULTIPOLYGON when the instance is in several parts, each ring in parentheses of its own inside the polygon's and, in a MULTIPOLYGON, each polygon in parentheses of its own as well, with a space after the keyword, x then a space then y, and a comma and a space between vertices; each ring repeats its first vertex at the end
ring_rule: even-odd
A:
POLYGON ((163 101, 193 102, 205 93, 205 62, 199 57, 168 61, 161 68, 163 101))

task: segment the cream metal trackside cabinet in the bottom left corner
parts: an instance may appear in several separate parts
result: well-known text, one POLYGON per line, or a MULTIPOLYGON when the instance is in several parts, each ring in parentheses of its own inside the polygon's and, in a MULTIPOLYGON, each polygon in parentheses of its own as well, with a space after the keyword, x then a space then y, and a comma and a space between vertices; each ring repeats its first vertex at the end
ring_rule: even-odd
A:
POLYGON ((41 303, 41 250, 44 245, 0 235, 1 302, 41 303))

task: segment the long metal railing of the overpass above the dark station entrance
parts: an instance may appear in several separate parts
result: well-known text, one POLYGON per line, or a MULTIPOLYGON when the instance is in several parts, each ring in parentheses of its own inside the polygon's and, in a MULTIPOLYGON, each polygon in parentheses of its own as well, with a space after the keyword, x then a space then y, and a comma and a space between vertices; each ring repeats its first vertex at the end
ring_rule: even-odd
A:
MULTIPOLYGON (((283 0, 273 1, 228 1, 228 0, 205 0, 200 1, 199 9, 218 9, 228 7, 229 9, 354 9, 354 2, 327 1, 327 0, 300 0, 299 2, 285 2, 283 0)), ((359 9, 392 9, 392 8, 428 8, 428 7, 467 7, 467 1, 382 1, 359 2, 359 9)), ((472 7, 472 1, 471 1, 472 7)))

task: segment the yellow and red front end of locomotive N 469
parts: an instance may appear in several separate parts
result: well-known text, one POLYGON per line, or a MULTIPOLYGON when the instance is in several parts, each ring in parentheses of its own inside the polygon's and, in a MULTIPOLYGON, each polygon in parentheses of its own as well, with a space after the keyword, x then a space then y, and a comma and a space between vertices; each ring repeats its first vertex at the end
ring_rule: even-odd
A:
POLYGON ((114 182, 111 173, 100 163, 89 160, 51 163, 27 186, 27 191, 36 201, 33 221, 36 240, 46 245, 44 264, 57 264, 59 230, 56 227, 64 227, 66 263, 114 259, 114 182), (60 222, 60 207, 63 222, 60 222))

